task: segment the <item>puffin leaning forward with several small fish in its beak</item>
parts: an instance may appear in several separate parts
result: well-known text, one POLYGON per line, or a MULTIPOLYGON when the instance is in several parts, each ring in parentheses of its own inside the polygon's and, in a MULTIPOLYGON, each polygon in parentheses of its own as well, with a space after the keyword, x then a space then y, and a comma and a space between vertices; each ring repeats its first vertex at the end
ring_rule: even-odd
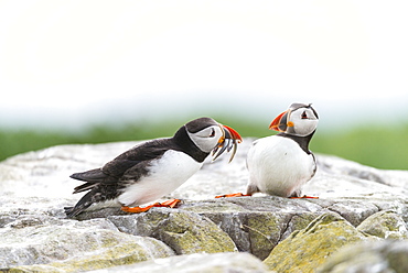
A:
POLYGON ((243 139, 230 127, 212 118, 198 118, 182 125, 172 138, 154 139, 133 146, 103 167, 71 175, 85 182, 73 194, 87 192, 74 207, 65 207, 67 218, 74 218, 89 207, 120 205, 127 212, 143 212, 152 207, 175 207, 171 199, 139 207, 170 194, 203 165, 210 154, 213 161, 233 150, 243 139), (99 205, 99 206, 98 206, 99 205))

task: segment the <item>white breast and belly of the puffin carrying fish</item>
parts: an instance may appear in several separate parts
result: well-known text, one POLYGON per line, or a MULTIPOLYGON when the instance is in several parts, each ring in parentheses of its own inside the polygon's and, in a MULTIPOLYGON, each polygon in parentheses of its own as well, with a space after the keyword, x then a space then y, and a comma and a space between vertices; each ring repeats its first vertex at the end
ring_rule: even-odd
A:
POLYGON ((202 165, 183 152, 169 150, 152 163, 149 175, 126 187, 118 200, 125 206, 151 203, 176 189, 202 165))

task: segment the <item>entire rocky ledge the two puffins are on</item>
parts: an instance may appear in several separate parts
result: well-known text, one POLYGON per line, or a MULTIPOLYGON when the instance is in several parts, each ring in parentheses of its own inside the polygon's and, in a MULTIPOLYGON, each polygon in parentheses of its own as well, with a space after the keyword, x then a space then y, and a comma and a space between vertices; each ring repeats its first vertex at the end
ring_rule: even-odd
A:
POLYGON ((318 154, 303 193, 319 199, 214 199, 245 190, 250 143, 167 196, 183 200, 176 209, 138 215, 63 211, 80 197, 72 173, 135 142, 54 146, 0 163, 0 271, 408 272, 408 172, 318 154))

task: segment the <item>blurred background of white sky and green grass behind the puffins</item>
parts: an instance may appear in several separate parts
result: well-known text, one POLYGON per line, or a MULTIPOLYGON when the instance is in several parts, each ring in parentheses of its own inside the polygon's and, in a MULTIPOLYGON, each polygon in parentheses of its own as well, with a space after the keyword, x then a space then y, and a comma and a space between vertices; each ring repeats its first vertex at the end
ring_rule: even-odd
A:
POLYGON ((2 0, 0 160, 169 136, 202 116, 266 136, 298 101, 320 114, 312 151, 408 170, 407 7, 2 0))

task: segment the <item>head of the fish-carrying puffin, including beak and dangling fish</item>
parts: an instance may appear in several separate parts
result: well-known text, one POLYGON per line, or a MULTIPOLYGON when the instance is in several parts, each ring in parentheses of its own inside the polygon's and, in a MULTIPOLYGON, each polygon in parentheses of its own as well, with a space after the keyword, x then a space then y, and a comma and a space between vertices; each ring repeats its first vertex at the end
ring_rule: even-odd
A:
POLYGON ((237 143, 241 142, 239 133, 233 128, 223 125, 216 122, 212 118, 200 118, 190 121, 185 124, 186 132, 194 144, 203 152, 214 154, 218 148, 222 148, 214 160, 218 157, 225 150, 228 152, 234 148, 234 152, 230 156, 233 160, 237 143))

